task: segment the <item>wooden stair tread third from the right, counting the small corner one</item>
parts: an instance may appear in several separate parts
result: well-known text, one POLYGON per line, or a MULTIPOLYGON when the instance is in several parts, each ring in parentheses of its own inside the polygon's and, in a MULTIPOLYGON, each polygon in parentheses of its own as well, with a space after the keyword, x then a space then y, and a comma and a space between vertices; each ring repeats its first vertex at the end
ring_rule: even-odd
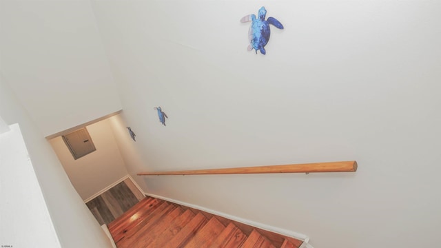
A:
POLYGON ((240 247, 246 239, 247 236, 236 225, 229 223, 210 247, 236 248, 240 247))

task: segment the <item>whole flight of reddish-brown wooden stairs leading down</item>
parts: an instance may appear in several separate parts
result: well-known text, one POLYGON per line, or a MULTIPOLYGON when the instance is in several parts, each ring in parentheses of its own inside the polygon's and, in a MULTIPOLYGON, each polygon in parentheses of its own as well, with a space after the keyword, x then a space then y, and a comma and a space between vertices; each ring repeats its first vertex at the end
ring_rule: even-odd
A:
POLYGON ((108 225, 119 248, 298 248, 301 240, 146 197, 108 225))

